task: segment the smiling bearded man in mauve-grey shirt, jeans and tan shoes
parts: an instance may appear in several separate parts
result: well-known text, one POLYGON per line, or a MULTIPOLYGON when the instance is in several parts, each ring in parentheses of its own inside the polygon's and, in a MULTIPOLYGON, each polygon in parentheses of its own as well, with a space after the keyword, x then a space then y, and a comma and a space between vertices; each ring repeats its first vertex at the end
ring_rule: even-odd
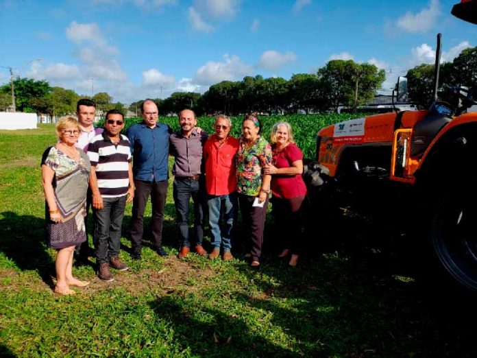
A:
POLYGON ((179 113, 181 130, 171 134, 171 154, 175 157, 172 174, 174 176, 173 197, 177 215, 180 251, 179 259, 187 256, 191 243, 188 235, 189 201, 194 202, 195 250, 206 256, 202 248, 204 237, 204 206, 206 203, 202 151, 207 141, 204 131, 197 132, 197 119, 193 110, 179 113))

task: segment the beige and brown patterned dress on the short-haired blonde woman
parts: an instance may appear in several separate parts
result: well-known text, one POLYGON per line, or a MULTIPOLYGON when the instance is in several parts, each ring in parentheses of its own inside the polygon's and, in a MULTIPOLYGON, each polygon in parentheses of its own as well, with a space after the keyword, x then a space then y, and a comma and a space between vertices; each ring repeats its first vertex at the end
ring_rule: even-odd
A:
POLYGON ((61 222, 49 219, 49 207, 45 202, 48 245, 62 249, 76 246, 86 241, 84 217, 86 216, 86 191, 91 170, 88 156, 82 151, 79 161, 70 158, 56 147, 49 147, 42 156, 42 165, 55 172, 53 191, 55 202, 61 215, 61 222))

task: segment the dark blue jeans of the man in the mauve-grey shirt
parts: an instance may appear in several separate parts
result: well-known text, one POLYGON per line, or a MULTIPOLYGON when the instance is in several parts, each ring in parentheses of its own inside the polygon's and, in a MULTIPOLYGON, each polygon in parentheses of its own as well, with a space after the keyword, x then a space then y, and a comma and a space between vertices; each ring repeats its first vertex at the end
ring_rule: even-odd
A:
POLYGON ((189 201, 194 202, 194 236, 195 244, 202 245, 204 239, 204 209, 206 193, 204 180, 175 178, 173 185, 176 220, 180 246, 191 247, 188 233, 189 201))

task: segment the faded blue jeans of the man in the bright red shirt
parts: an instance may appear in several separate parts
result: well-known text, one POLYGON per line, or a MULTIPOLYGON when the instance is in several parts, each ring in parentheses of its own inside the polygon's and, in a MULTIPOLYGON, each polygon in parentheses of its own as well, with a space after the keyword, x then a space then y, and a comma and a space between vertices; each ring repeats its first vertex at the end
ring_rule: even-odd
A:
POLYGON ((209 211, 209 224, 212 230, 212 246, 214 250, 230 251, 232 248, 232 235, 234 220, 237 214, 238 200, 236 193, 228 195, 207 195, 207 204, 209 211), (223 216, 222 216, 222 215, 223 216), (223 217, 223 225, 220 225, 223 217))

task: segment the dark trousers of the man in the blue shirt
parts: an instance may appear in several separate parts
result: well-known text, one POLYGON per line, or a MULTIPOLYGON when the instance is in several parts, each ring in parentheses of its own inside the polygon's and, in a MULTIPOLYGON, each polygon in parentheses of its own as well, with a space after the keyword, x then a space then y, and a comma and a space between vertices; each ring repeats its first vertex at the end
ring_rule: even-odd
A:
POLYGON ((132 201, 131 220, 131 240, 134 250, 140 250, 143 246, 144 211, 147 200, 149 200, 149 195, 151 195, 152 204, 152 239, 157 248, 162 246, 162 223, 164 222, 167 184, 167 180, 161 180, 160 182, 134 180, 136 190, 134 191, 134 199, 132 201))

